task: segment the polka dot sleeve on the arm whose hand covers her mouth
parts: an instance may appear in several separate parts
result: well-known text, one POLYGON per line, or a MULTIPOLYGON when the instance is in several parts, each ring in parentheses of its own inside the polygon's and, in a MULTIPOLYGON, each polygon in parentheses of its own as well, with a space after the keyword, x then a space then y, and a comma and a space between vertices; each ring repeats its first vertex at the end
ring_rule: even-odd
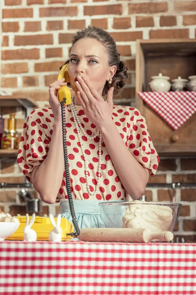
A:
POLYGON ((149 136, 146 119, 135 109, 131 120, 133 120, 133 127, 128 138, 128 148, 135 159, 149 170, 149 175, 153 176, 160 159, 149 136))

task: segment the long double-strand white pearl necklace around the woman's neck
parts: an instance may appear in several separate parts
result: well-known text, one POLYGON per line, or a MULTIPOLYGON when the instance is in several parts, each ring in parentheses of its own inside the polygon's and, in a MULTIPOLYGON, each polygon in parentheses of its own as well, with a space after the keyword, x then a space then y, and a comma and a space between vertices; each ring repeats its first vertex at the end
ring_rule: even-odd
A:
POLYGON ((102 136, 101 136, 99 130, 96 132, 96 134, 94 136, 89 136, 85 132, 85 130, 82 127, 82 124, 81 124, 81 122, 80 122, 80 120, 79 120, 79 118, 77 116, 77 112, 76 112, 76 109, 75 109, 75 105, 74 105, 73 99, 74 99, 74 96, 72 97, 72 102, 71 102, 71 105, 70 105, 70 109, 71 109, 71 112, 72 112, 72 116, 73 116, 73 121, 74 121, 74 124, 75 124, 75 128, 77 130, 77 137, 78 137, 78 141, 80 143, 81 152, 82 152, 82 155, 83 155, 83 158, 84 158, 84 170, 85 170, 85 178, 86 178, 86 187, 87 187, 88 194, 91 195, 91 196, 94 196, 94 195, 97 194, 98 189, 99 189, 99 185, 100 185, 99 184, 99 181, 100 181, 100 177, 101 177, 100 169, 101 169, 101 143, 102 143, 102 136), (86 159, 86 156, 85 156, 85 153, 84 153, 84 148, 83 148, 83 144, 82 144, 82 141, 81 141, 79 128, 81 129, 82 133, 84 134, 84 136, 87 139, 94 139, 97 136, 99 136, 99 144, 98 144, 98 177, 97 177, 97 187, 95 189, 95 192, 91 192, 90 191, 89 178, 88 178, 88 170, 87 170, 87 159, 86 159))

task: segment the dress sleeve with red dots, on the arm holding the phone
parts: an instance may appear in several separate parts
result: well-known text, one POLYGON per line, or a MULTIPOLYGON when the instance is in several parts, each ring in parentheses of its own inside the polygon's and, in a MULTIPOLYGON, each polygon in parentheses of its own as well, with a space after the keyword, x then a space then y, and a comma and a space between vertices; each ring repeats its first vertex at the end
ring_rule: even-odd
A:
POLYGON ((29 115, 23 126, 17 163, 30 183, 33 169, 41 165, 47 157, 49 140, 40 119, 34 119, 29 115))

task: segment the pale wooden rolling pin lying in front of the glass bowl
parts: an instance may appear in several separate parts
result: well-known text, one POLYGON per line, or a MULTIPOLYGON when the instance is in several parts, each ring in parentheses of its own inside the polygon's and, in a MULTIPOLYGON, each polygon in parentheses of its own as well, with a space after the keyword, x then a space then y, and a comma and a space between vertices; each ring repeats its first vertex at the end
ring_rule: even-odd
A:
POLYGON ((173 239, 173 234, 172 232, 152 233, 149 229, 91 228, 82 229, 78 238, 89 242, 148 243, 151 240, 169 242, 173 239))

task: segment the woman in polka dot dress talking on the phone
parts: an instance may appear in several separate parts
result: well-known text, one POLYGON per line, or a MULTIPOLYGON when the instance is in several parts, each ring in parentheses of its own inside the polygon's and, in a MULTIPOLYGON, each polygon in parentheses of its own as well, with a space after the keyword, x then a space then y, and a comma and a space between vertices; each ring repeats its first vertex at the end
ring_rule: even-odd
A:
MULTIPOLYGON (((98 202, 123 201, 128 195, 140 198, 159 157, 140 112, 113 105, 113 94, 123 88, 127 67, 109 33, 90 26, 78 31, 68 62, 75 93, 66 107, 74 208, 80 228, 100 227, 98 202)), ((57 90, 65 85, 64 79, 49 85, 51 108, 38 108, 26 118, 17 160, 41 199, 49 204, 60 200, 62 217, 71 220, 57 98, 57 90)))

